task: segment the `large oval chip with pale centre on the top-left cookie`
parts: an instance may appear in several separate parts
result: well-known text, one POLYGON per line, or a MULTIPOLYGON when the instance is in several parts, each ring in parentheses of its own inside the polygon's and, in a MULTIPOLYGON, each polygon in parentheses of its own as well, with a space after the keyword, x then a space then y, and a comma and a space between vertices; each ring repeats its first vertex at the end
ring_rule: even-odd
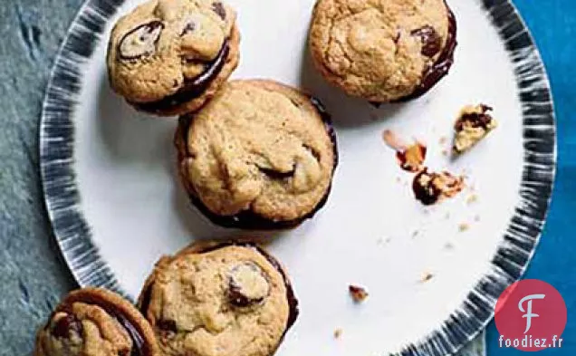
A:
POLYGON ((156 52, 156 43, 164 29, 160 21, 151 21, 148 24, 140 24, 131 30, 120 40, 120 58, 133 60, 149 56, 156 52))

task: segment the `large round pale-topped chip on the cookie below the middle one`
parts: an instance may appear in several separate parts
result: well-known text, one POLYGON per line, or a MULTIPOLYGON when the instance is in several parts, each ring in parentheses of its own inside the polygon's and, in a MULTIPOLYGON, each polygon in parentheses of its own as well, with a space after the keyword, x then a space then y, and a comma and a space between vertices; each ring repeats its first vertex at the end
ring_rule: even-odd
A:
POLYGON ((235 265, 228 274, 228 301, 237 307, 264 302, 270 284, 260 266, 252 262, 235 265))

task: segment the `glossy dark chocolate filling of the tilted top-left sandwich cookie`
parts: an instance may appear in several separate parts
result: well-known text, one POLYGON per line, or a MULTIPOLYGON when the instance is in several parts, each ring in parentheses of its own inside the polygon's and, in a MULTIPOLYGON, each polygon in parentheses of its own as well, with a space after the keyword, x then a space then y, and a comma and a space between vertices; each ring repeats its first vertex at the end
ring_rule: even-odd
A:
POLYGON ((130 101, 130 104, 141 111, 157 113, 162 111, 169 111, 178 105, 199 97, 204 93, 204 91, 206 91, 206 88, 216 78, 216 75, 222 71, 222 68, 226 63, 228 53, 230 53, 230 45, 228 40, 226 40, 226 42, 222 45, 220 52, 216 55, 214 61, 208 63, 206 70, 196 78, 185 80, 184 86, 177 92, 159 101, 130 101))

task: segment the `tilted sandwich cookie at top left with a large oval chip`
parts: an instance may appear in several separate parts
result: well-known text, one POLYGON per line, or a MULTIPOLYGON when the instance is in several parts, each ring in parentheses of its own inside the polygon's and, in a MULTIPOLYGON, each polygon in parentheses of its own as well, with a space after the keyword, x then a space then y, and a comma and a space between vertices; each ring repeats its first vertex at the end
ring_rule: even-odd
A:
POLYGON ((220 0, 150 0, 120 18, 110 35, 114 91, 140 111, 196 111, 235 70, 240 34, 220 0))

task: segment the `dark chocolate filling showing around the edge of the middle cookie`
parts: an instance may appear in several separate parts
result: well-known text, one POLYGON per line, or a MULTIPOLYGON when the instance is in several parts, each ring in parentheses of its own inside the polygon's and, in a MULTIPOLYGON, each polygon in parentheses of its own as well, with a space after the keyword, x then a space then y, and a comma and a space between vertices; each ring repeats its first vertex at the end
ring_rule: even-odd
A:
MULTIPOLYGON (((332 142, 332 149, 334 151, 333 167, 335 169, 338 166, 338 146, 336 142, 336 132, 331 124, 331 115, 326 111, 326 109, 318 99, 311 96, 310 101, 314 106, 314 108, 316 108, 316 111, 318 111, 318 113, 320 114, 322 121, 324 122, 326 132, 330 136, 330 140, 332 142)), ((191 120, 192 117, 190 116, 184 116, 181 117, 180 120, 178 120, 178 125, 180 126, 181 130, 180 133, 182 136, 180 138, 177 138, 177 140, 183 140, 184 142, 187 141, 187 131, 191 120)), ((180 155, 182 157, 179 157, 178 161, 182 161, 182 159, 184 159, 182 152, 180 152, 180 155)), ((188 197, 190 198, 192 204, 195 207, 197 207, 197 209, 204 216, 206 216, 212 223, 216 225, 230 228, 242 228, 252 230, 277 230, 298 226, 302 223, 302 221, 312 218, 312 216, 314 216, 328 201, 331 186, 326 190, 326 194, 324 195, 324 197, 322 197, 322 200, 318 203, 316 207, 314 207, 314 209, 310 213, 300 218, 287 221, 274 221, 264 216, 259 216, 251 210, 243 210, 233 216, 221 216, 213 213, 210 209, 208 209, 208 207, 206 207, 206 205, 200 200, 200 198, 197 197, 196 192, 193 191, 193 188, 191 187, 190 184, 187 184, 187 190, 188 190, 188 197)))

